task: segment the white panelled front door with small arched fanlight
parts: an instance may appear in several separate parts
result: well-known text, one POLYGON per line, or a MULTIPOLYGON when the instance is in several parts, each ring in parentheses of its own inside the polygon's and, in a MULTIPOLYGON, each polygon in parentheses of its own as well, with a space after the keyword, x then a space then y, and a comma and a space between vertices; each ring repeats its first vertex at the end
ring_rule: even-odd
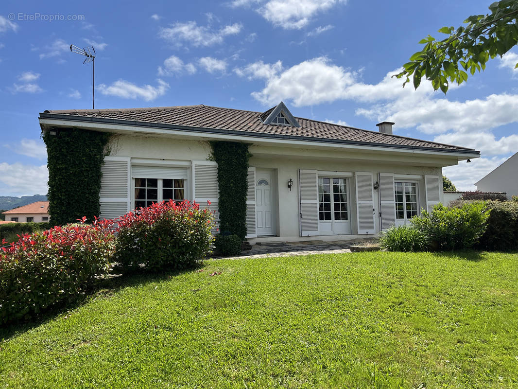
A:
POLYGON ((271 172, 255 172, 255 191, 257 235, 275 235, 275 217, 272 205, 274 183, 271 172))

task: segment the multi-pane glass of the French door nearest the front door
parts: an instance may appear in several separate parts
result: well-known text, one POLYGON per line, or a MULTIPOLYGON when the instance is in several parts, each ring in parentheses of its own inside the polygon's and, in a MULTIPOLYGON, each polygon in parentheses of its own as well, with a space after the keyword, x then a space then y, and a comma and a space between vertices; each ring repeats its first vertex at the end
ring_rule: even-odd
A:
POLYGON ((319 177, 319 220, 348 220, 345 178, 319 177))

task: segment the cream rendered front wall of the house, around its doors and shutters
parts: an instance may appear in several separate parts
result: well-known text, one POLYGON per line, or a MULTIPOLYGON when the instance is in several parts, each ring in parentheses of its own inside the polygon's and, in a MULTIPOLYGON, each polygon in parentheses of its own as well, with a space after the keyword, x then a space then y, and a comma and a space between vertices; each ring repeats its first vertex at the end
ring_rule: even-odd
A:
MULTIPOLYGON (((318 237, 323 240, 365 238, 366 235, 355 235, 356 206, 355 206, 355 172, 371 172, 374 182, 378 180, 378 173, 394 173, 397 179, 410 177, 418 183, 419 207, 426 208, 425 175, 442 177, 441 166, 457 163, 456 157, 438 156, 434 154, 404 154, 394 151, 343 150, 339 148, 303 149, 300 147, 251 145, 252 154, 250 166, 256 169, 271 169, 276 180, 274 201, 277 203, 277 238, 268 238, 269 241, 297 241, 308 240, 314 237, 300 237, 299 231, 299 169, 318 170, 326 172, 350 172, 349 179, 350 210, 352 235, 331 235, 318 237), (398 178, 399 177, 399 178, 398 178), (287 187, 289 179, 293 180, 291 190, 287 187)), ((110 143, 111 157, 131 157, 131 164, 153 163, 157 165, 175 162, 206 161, 210 159, 211 148, 206 142, 172 140, 169 137, 142 137, 119 135, 110 143)), ((190 176, 189 176, 190 177, 190 176)), ((442 178, 441 178, 442 189, 442 178)), ((188 186, 192 183, 188 183, 188 186)), ((133 193, 133 188, 131 189, 133 193)), ((133 195, 132 195, 133 196, 133 195)), ((380 211, 378 191, 374 191, 374 208, 376 231, 380 230, 380 211)), ((441 201, 443 193, 440 190, 441 201)), ((191 199, 191 198, 188 198, 191 199)), ((132 206, 133 206, 132 199, 132 206)), ((261 238, 252 239, 260 241, 261 238)))

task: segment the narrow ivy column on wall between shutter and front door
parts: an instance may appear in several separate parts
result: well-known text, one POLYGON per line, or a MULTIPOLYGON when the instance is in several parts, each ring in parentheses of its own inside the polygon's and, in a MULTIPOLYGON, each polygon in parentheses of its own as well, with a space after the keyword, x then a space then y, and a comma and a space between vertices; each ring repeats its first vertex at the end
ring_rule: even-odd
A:
POLYGON ((244 240, 247 234, 248 144, 211 142, 218 163, 220 231, 244 240))

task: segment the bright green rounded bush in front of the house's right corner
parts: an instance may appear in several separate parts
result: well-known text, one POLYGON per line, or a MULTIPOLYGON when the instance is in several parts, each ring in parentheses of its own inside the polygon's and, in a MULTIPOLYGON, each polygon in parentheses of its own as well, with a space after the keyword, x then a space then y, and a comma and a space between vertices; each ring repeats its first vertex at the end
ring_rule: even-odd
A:
POLYGON ((431 213, 423 211, 421 216, 412 217, 410 223, 428 237, 431 249, 455 250, 478 243, 488 216, 485 202, 465 203, 459 208, 438 204, 431 213))

